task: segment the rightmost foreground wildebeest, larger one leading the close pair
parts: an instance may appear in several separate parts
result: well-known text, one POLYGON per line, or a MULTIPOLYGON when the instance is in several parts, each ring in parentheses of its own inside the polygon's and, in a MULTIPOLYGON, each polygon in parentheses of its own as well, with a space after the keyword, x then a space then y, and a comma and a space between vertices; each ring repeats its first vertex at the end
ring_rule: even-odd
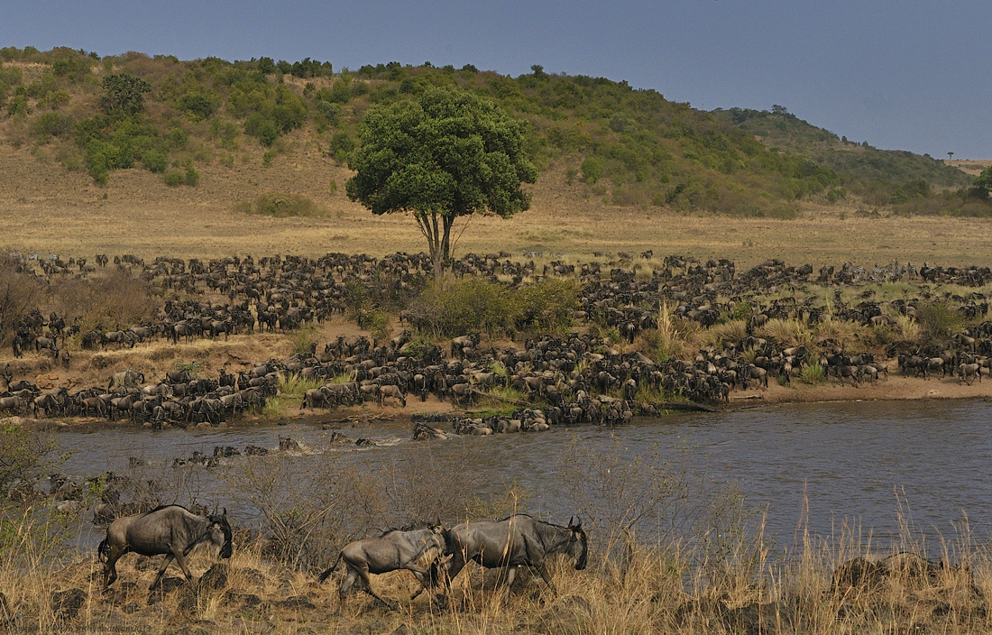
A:
POLYGON ((508 587, 519 567, 530 567, 554 590, 551 573, 545 567, 548 556, 565 554, 574 558, 577 571, 585 569, 588 557, 582 521, 569 521, 567 527, 561 527, 535 520, 527 514, 516 514, 497 522, 455 525, 447 531, 445 539, 451 553, 445 582, 453 579, 471 560, 486 569, 507 568, 508 587))

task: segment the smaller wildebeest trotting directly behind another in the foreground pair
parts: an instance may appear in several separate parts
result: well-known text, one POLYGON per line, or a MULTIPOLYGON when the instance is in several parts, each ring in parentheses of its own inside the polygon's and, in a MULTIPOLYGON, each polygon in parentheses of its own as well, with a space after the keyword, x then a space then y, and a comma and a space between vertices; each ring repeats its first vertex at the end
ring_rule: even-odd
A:
POLYGON ((383 599, 372 590, 369 573, 388 573, 405 569, 417 576, 421 582, 421 588, 410 598, 414 599, 432 583, 430 573, 436 566, 436 561, 444 553, 444 534, 443 527, 432 525, 424 529, 406 531, 394 529, 378 538, 357 540, 346 545, 338 554, 334 564, 320 573, 318 579, 321 582, 327 579, 343 560, 348 574, 338 588, 338 594, 342 599, 355 583, 355 579, 361 577, 366 593, 384 604, 393 606, 393 602, 383 599))

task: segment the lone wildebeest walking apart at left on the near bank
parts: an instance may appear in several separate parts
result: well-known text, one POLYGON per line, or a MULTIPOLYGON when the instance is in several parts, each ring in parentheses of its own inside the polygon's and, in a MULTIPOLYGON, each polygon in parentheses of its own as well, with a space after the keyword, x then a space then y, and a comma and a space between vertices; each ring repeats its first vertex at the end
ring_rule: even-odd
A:
POLYGON ((149 588, 155 588, 173 559, 191 583, 192 573, 186 567, 186 556, 199 545, 208 544, 220 550, 221 558, 231 557, 231 525, 226 509, 220 516, 204 518, 181 505, 163 505, 145 514, 118 518, 107 527, 107 537, 96 549, 100 560, 106 559, 103 588, 117 579, 117 561, 129 552, 142 556, 166 555, 149 588))

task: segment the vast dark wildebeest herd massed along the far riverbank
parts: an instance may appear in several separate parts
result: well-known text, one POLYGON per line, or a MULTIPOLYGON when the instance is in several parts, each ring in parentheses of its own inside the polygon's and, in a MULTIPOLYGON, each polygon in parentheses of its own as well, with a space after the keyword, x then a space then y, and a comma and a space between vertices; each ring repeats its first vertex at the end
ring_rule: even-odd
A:
MULTIPOLYGON (((57 256, 35 260, 9 253, 6 258, 7 266, 43 284, 67 276, 98 276, 101 268, 111 266, 104 255, 97 256, 96 267, 87 265, 85 259, 64 262, 57 256)), ((339 336, 320 346, 313 344, 309 353, 270 359, 250 368, 232 367, 230 372, 225 367, 215 378, 177 369, 147 382, 153 378, 146 378, 140 368, 128 368, 114 373, 106 384, 74 392, 65 388, 43 391, 29 379, 16 378, 8 363, 2 369, 5 390, 0 413, 127 417, 152 426, 216 425, 246 409, 264 407, 268 398, 277 395, 281 378, 299 375, 317 386, 303 396, 302 409, 366 401, 405 407, 411 397, 426 401, 432 395, 469 408, 497 387, 515 389, 499 392, 516 395, 504 398, 519 402, 522 408, 516 413, 453 418, 452 427, 459 434, 542 431, 558 424, 616 425, 638 414, 655 415, 671 403, 646 396, 718 404, 736 389, 767 388, 770 377, 790 382, 811 362, 842 384, 884 381, 894 369, 868 352, 847 350, 851 342, 818 342, 820 349, 812 350, 762 337, 761 328, 774 318, 805 324, 829 318, 873 328, 892 327, 892 316, 913 317, 933 301, 949 304, 964 323, 972 325, 899 355, 902 372, 925 378, 956 375, 959 382, 970 384, 981 381, 983 371, 990 367, 992 321, 983 320, 988 298, 981 291, 992 283, 988 267, 925 263, 918 268, 893 262, 869 269, 845 263, 817 273, 809 265, 797 268, 768 260, 739 272, 732 261, 723 259, 655 259, 651 252, 611 258, 606 264, 555 261, 538 266, 533 260, 512 261, 505 252, 462 257, 452 264, 455 276, 480 276, 510 286, 545 278, 575 279, 580 291, 573 317, 579 323, 595 323, 597 336, 587 332, 533 335, 501 345, 484 344, 479 333, 464 333, 442 348, 415 337, 426 325, 418 316, 402 311, 404 303, 434 277, 426 254, 375 258, 335 253, 318 259, 272 256, 258 260, 245 256, 207 262, 160 257, 150 263, 135 256, 115 256, 113 267, 130 271, 160 295, 175 292, 162 302, 158 317, 141 324, 103 324, 80 332, 75 317, 37 308, 17 323, 11 340, 15 358, 30 351, 68 368, 72 363, 68 348, 76 345, 105 350, 133 348, 163 338, 178 343, 256 329, 291 331, 344 313, 356 288, 396 308, 405 330, 383 341, 365 335, 339 336), (899 282, 915 283, 918 297, 883 303, 874 298, 876 292, 869 286, 899 282), (973 291, 941 293, 940 285, 973 291), (832 288, 832 301, 796 293, 814 287, 832 288), (861 290, 857 301, 844 302, 842 288, 861 290), (797 295, 804 299, 797 300, 797 295), (728 316, 743 316, 746 332, 706 346, 690 359, 652 359, 632 346, 626 347, 629 352, 621 352, 625 347, 618 345, 620 341, 633 344, 643 331, 658 328, 663 306, 669 308, 671 319, 696 322, 701 328, 728 316), (613 337, 604 337, 604 332, 612 332, 613 337), (66 343, 70 337, 71 345, 66 343)), ((363 311, 356 315, 360 323, 363 311)), ((422 436, 430 436, 428 430, 434 429, 422 426, 422 436)))

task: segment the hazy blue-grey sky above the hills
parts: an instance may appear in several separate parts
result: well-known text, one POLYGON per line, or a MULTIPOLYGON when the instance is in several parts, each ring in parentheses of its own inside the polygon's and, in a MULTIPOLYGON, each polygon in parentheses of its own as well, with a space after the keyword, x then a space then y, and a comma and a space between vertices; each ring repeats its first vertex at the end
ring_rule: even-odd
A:
POLYGON ((335 70, 542 64, 697 108, 781 104, 880 148, 992 159, 990 0, 3 0, 0 46, 27 45, 335 70))

